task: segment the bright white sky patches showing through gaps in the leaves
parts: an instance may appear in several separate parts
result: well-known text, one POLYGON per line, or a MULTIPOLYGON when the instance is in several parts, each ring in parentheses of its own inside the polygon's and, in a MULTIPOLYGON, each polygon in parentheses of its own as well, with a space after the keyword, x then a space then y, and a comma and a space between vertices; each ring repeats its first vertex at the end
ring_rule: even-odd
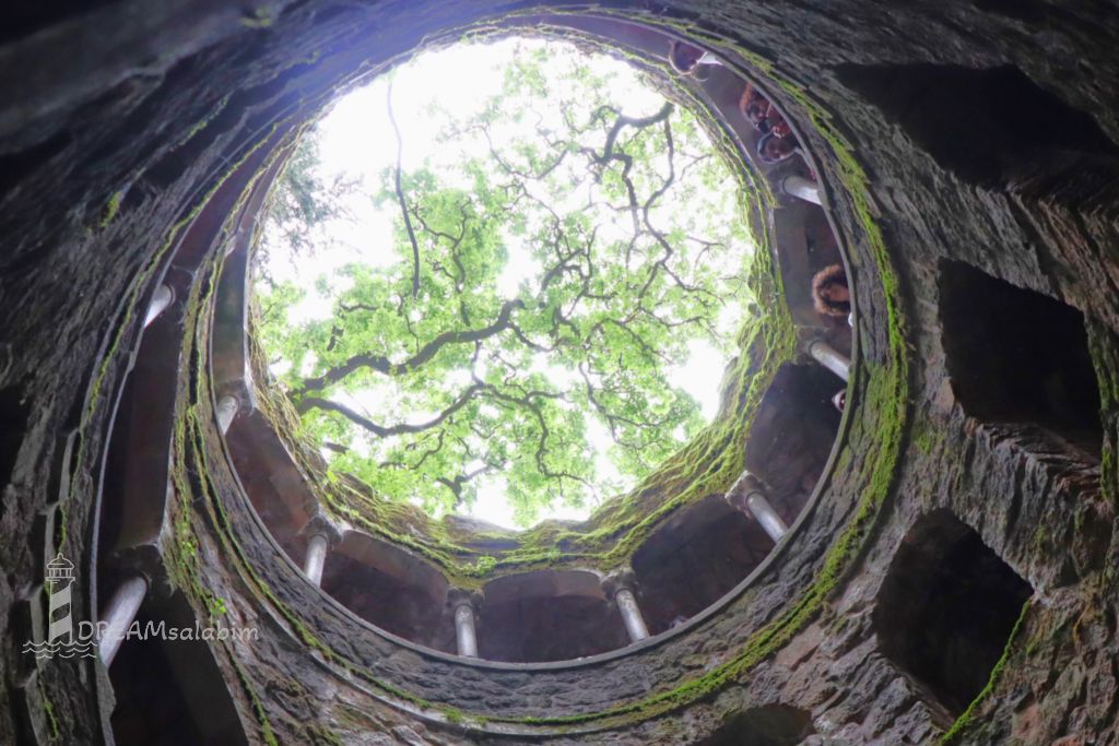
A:
MULTIPOLYGON (((321 293, 310 287, 314 278, 328 276, 332 271, 355 262, 385 266, 396 261, 387 243, 382 242, 392 240, 393 220, 398 216, 398 208, 388 205, 384 209, 377 209, 367 196, 379 189, 382 172, 386 167, 395 166, 396 161, 396 136, 386 106, 389 79, 393 111, 404 135, 404 170, 420 167, 425 159, 435 167, 452 166, 460 162, 463 154, 486 152, 485 140, 480 136, 461 138, 455 143, 460 145, 457 148, 439 149, 432 145, 444 122, 432 114, 431 103, 438 100, 443 108, 464 114, 480 111, 480 104, 487 97, 500 92, 504 66, 517 41, 526 44, 524 39, 505 40, 492 45, 457 45, 425 53, 394 74, 380 76, 368 86, 347 94, 319 122, 321 177, 328 182, 339 177, 359 178, 367 186, 351 196, 348 204, 351 213, 349 219, 335 220, 325 227, 320 236, 322 246, 313 257, 292 257, 273 252, 269 272, 275 281, 297 281, 309 290, 305 300, 289 312, 290 323, 330 318, 331 295, 345 287, 338 285, 338 278, 331 278, 333 292, 321 293)), ((615 93, 613 97, 624 102, 624 113, 648 115, 664 104, 660 94, 643 87, 624 63, 600 56, 594 58, 593 64, 595 73, 609 74, 610 85, 615 93)), ((545 120, 552 117, 557 123, 560 121, 558 112, 543 111, 540 114, 545 120)), ((525 123, 523 126, 534 124, 525 123)), ((584 198, 573 195, 572 199, 584 198)), ((628 218, 622 216, 621 219, 628 218)), ((624 230, 624 226, 619 229, 624 230)), ((517 242, 510 242, 508 251, 509 263, 499 280, 499 287, 513 296, 518 283, 533 274, 534 261, 517 242)), ((741 308, 732 305, 734 308, 727 308, 720 319, 718 325, 725 333, 733 333, 741 318, 741 308)), ((718 407, 718 384, 726 356, 706 340, 692 341, 689 350, 688 361, 671 370, 671 381, 700 403, 703 415, 709 421, 718 407)), ((544 360, 539 365, 542 371, 552 377, 568 375, 566 371, 552 369, 544 360)), ((282 372, 282 368, 274 372, 282 372)), ((432 413, 393 412, 394 397, 391 389, 389 383, 385 387, 350 396, 339 395, 338 399, 359 409, 380 413, 382 419, 392 422, 423 422, 431 416, 432 413)), ((592 429, 591 441, 599 454, 596 468, 600 474, 620 481, 604 455, 610 443, 605 427, 592 429)), ((514 522, 513 510, 504 498, 504 491, 499 476, 480 482, 478 499, 471 506, 469 516, 505 528, 519 528, 514 522)), ((594 508, 594 504, 580 509, 556 506, 543 517, 582 520, 594 508)))

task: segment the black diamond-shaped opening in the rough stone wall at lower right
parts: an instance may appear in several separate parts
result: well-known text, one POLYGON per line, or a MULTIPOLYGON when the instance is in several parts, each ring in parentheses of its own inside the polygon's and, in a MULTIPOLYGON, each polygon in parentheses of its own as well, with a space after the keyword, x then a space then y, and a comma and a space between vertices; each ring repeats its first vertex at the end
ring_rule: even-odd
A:
POLYGON ((952 716, 986 686, 1033 587, 947 510, 902 540, 878 593, 881 650, 952 716))

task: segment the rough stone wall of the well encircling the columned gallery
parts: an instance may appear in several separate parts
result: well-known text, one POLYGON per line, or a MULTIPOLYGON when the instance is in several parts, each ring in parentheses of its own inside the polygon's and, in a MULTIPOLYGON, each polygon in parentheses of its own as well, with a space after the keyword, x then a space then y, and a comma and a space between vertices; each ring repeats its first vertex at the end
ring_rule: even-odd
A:
MULTIPOLYGON (((79 618, 104 595, 93 579, 100 464, 138 309, 185 220, 331 86, 425 35, 527 7, 158 6, 3 11, 3 743, 104 737, 104 670, 87 659, 35 665, 19 648, 43 634, 39 578, 56 551, 79 559, 90 579, 79 618)), ((181 589, 199 616, 217 597, 231 618, 260 623, 258 644, 214 651, 250 740, 677 744, 754 727, 756 718, 736 719, 744 712, 800 723, 763 709, 780 705, 810 715, 816 743, 934 743, 960 702, 880 643, 896 639, 883 634, 896 616, 876 608, 903 537, 935 511, 974 529, 1034 594, 1005 655, 994 655, 997 676, 950 738, 1119 738, 1119 29, 1109 3, 1078 8, 594 6, 707 39, 765 83, 814 153, 853 267, 863 361, 826 491, 750 589, 684 634, 602 663, 472 667, 356 624, 301 580, 238 501, 206 389, 185 371, 180 396, 196 409, 177 441, 180 465, 206 469, 189 472, 176 504, 201 506, 188 519, 205 587, 181 589), (1100 381, 1099 432, 1088 438, 1098 451, 1051 423, 984 419, 990 413, 960 404, 944 323, 946 283, 958 274, 946 274, 946 261, 1082 314, 1100 381)))

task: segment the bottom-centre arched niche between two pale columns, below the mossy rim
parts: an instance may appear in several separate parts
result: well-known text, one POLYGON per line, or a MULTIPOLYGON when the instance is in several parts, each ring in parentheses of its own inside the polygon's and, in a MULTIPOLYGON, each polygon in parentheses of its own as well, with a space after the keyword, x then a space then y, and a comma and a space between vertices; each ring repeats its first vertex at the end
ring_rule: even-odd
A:
POLYGON ((629 644, 621 615, 594 573, 510 575, 482 592, 478 652, 486 660, 571 660, 629 644))

